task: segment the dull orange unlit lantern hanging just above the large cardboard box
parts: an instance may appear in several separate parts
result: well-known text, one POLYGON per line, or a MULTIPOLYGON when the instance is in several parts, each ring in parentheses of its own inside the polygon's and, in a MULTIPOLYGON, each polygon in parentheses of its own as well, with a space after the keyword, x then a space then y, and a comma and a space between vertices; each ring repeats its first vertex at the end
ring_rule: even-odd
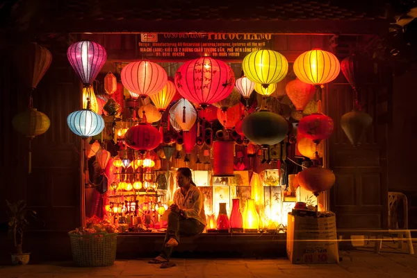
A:
POLYGON ((313 166, 297 174, 297 180, 303 189, 313 192, 315 196, 322 191, 332 188, 336 177, 327 168, 313 166))

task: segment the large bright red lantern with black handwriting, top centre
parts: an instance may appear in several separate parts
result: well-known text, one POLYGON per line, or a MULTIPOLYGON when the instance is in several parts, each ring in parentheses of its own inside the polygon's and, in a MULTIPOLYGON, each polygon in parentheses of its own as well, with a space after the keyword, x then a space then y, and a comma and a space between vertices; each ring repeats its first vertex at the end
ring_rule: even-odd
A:
POLYGON ((175 73, 175 87, 179 94, 203 108, 229 96, 234 82, 231 67, 209 57, 185 62, 175 73))

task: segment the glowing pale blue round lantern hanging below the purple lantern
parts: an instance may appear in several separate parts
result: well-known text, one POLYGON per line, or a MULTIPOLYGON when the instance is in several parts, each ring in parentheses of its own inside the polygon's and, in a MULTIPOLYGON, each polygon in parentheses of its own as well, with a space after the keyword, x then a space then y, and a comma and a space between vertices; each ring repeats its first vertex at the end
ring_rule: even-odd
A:
POLYGON ((72 132, 83 138, 95 136, 104 129, 104 119, 87 109, 74 111, 68 115, 67 124, 72 132))

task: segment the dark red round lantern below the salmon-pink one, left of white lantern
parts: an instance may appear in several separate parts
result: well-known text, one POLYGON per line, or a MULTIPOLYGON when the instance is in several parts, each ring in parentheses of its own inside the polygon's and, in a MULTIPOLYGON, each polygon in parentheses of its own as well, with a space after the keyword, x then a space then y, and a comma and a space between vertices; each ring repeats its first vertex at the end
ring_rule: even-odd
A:
POLYGON ((152 125, 139 123, 127 130, 124 140, 129 148, 145 153, 145 151, 153 150, 159 145, 161 133, 152 125))

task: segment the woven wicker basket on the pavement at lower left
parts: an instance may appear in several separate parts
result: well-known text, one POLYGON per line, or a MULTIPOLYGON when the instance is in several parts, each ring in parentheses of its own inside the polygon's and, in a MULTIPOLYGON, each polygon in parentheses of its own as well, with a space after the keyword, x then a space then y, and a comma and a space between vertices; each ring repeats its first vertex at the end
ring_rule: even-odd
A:
POLYGON ((72 258, 77 266, 111 266, 116 259, 117 233, 75 234, 71 240, 72 258))

